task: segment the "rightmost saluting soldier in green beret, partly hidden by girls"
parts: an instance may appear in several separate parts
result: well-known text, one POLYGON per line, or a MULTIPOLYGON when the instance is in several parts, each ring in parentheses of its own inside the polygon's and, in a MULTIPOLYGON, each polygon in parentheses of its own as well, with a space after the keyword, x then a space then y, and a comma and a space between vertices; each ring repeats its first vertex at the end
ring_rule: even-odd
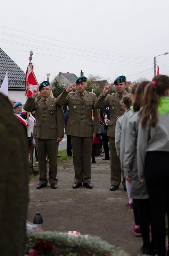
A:
MULTIPOLYGON (((126 77, 119 76, 115 79, 114 83, 105 86, 103 92, 97 98, 95 103, 96 108, 106 108, 109 107, 110 110, 110 122, 108 124, 107 135, 109 136, 109 148, 110 148, 110 168, 111 168, 111 187, 110 190, 114 191, 119 188, 121 183, 121 166, 120 159, 117 156, 115 147, 115 123, 118 116, 123 115, 125 110, 123 106, 120 105, 120 101, 123 95, 128 94, 126 91, 126 77), (116 93, 110 92, 112 86, 115 85, 116 93), (106 96, 106 97, 105 97, 106 96)), ((123 175, 123 171, 122 171, 123 175)), ((126 190, 126 182, 123 175, 122 184, 126 190)))

